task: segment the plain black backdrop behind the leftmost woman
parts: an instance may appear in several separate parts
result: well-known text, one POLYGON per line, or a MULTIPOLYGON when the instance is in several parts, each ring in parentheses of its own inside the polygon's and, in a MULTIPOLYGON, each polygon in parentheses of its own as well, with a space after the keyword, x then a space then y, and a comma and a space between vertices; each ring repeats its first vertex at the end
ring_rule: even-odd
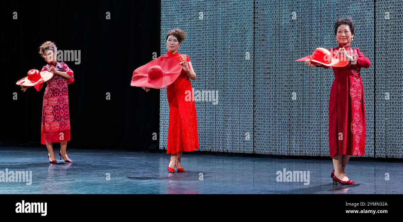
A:
MULTIPOLYGON (((40 145, 43 87, 24 93, 15 84, 46 65, 38 47, 81 50, 81 64, 66 61, 71 141, 68 148, 158 149, 159 90, 130 86, 135 68, 160 56, 159 1, 11 1, 1 3, 2 144, 40 145), (17 20, 13 20, 17 12, 17 20), (110 20, 106 19, 110 12, 110 20), (17 100, 13 100, 13 93, 17 100), (110 100, 106 100, 110 93, 110 100)), ((45 86, 45 85, 44 85, 45 86)), ((54 144, 55 146, 58 146, 54 144)))

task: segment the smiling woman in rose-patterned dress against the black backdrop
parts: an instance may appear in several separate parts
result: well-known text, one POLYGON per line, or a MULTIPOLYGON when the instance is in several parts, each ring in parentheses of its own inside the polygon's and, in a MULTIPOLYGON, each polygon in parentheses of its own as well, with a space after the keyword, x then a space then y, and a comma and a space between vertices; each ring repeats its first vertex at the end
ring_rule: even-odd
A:
MULTIPOLYGON (((48 62, 42 71, 53 72, 53 76, 46 82, 44 101, 42 106, 41 144, 48 148, 50 163, 56 163, 53 153, 53 144, 60 142, 60 159, 73 162, 66 154, 67 141, 70 141, 69 94, 67 84, 74 81, 73 71, 64 62, 57 62, 56 45, 47 41, 39 47, 39 53, 48 62)), ((42 84, 34 86, 41 90, 42 84)), ((24 92, 27 86, 21 86, 24 92)))

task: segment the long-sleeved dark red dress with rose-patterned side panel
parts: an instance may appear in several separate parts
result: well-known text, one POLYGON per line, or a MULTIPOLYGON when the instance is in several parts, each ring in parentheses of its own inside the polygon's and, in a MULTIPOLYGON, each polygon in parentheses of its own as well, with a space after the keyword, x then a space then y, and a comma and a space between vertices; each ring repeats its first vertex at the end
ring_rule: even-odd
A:
MULTIPOLYGON (((363 156, 365 151, 365 104, 364 87, 361 81, 361 68, 370 67, 370 60, 350 45, 341 45, 329 49, 336 53, 345 47, 350 56, 357 58, 355 64, 335 68, 334 80, 329 97, 329 152, 330 157, 336 153, 363 156)), ((324 68, 329 68, 324 66, 324 68)))

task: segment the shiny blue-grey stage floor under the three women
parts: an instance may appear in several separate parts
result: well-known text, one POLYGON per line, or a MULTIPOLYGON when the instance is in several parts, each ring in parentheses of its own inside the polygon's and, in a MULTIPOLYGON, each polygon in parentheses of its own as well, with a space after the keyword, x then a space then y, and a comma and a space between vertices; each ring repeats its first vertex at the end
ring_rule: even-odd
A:
POLYGON ((403 193, 400 162, 351 160, 346 172, 356 184, 333 185, 330 158, 184 153, 182 165, 187 172, 169 173, 166 167, 170 155, 162 153, 68 149, 74 162, 64 163, 57 158, 58 164, 50 164, 47 154, 46 148, 0 147, 0 180, 1 171, 5 180, 6 169, 32 171, 31 185, 0 182, 0 193, 403 193), (305 180, 309 184, 277 182, 277 172, 283 169, 305 171, 305 179, 309 173, 309 180, 305 180))

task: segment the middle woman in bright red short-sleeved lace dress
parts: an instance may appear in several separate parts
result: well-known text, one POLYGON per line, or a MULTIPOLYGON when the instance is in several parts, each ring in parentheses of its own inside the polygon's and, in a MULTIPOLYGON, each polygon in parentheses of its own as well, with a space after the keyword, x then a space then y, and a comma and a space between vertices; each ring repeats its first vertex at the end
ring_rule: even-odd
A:
MULTIPOLYGON (((168 51, 161 57, 170 57, 182 65, 182 72, 172 84, 166 87, 166 97, 169 104, 169 126, 167 154, 171 154, 168 171, 178 172, 185 170, 181 165, 182 152, 190 152, 199 148, 197 137, 196 106, 192 98, 193 90, 190 80, 196 80, 196 73, 189 56, 177 52, 186 33, 181 29, 173 29, 166 35, 166 48, 168 51)), ((143 87, 148 91, 150 88, 143 87)))

